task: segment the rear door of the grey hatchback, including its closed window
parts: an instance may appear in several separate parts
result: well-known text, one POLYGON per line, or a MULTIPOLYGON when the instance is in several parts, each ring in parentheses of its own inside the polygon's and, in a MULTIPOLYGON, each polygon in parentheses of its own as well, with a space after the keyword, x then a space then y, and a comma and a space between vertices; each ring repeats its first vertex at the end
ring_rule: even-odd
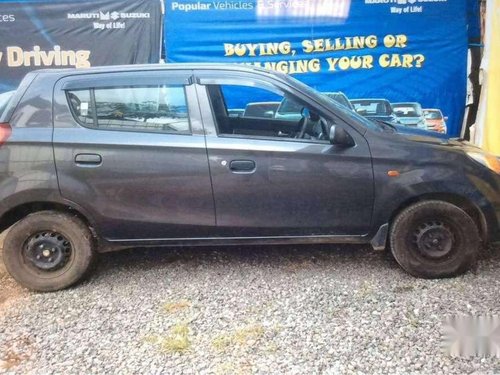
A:
POLYGON ((54 92, 63 197, 110 240, 203 237, 214 203, 191 71, 76 75, 54 92))

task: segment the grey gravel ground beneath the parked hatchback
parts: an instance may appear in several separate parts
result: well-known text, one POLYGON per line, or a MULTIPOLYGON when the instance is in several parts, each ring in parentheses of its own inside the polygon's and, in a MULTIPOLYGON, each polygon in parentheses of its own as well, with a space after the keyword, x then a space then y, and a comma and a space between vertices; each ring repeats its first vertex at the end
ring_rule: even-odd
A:
POLYGON ((358 246, 136 249, 35 294, 0 268, 0 373, 499 374, 441 349, 448 314, 500 313, 500 249, 419 280, 358 246))

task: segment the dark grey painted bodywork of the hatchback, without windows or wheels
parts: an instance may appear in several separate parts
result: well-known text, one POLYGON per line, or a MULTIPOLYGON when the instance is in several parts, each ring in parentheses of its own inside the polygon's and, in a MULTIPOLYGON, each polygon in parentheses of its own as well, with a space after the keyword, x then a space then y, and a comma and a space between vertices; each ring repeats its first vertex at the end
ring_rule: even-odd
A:
POLYGON ((3 225, 19 206, 63 204, 109 245, 101 251, 138 244, 372 240, 381 248, 394 215, 423 197, 465 202, 485 239, 500 240, 500 176, 466 156, 471 146, 431 133, 387 131, 260 69, 173 64, 39 71, 21 84, 1 121, 12 126, 0 148, 3 225), (206 89, 221 79, 286 91, 344 129, 354 145, 221 136, 206 89), (89 129, 75 120, 65 95, 161 80, 185 87, 190 134, 89 129), (84 165, 78 165, 81 155, 84 165), (398 177, 388 175, 393 170, 398 177))

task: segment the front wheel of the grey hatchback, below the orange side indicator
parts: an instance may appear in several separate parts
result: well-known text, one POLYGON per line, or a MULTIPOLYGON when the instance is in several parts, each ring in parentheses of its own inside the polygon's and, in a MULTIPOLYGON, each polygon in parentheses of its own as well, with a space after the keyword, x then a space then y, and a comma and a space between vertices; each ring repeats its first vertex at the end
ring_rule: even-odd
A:
POLYGON ((463 274, 476 262, 478 229, 462 209, 424 201, 403 210, 390 230, 391 252, 409 274, 426 279, 463 274))

